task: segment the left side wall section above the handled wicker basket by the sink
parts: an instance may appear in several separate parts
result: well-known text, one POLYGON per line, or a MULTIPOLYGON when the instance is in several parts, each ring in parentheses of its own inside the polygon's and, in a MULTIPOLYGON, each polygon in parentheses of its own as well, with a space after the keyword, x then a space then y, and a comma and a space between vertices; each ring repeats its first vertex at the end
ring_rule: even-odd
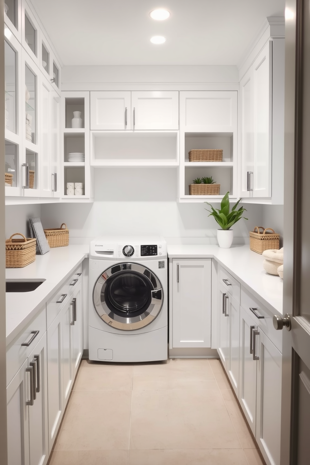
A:
POLYGON ((41 216, 41 205, 7 205, 6 206, 6 238, 14 233, 29 236, 29 218, 41 216))

